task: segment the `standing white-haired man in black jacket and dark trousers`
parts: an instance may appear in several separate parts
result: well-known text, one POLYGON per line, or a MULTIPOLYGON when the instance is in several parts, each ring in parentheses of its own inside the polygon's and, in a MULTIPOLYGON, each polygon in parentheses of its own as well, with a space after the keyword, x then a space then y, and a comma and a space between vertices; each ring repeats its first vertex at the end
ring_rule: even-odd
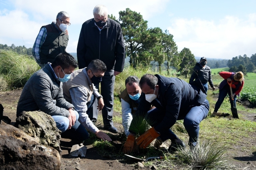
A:
MULTIPOLYGON (((100 59, 107 66, 101 81, 101 94, 105 106, 102 109, 104 129, 117 133, 113 125, 114 82, 115 76, 124 68, 124 38, 120 24, 108 18, 108 10, 98 5, 93 10, 94 18, 85 21, 80 32, 77 59, 79 68, 87 67, 94 59, 100 59)), ((99 82, 100 83, 100 80, 99 82)), ((94 84, 96 88, 99 84, 94 84)), ((92 121, 97 119, 97 101, 94 102, 92 121)))

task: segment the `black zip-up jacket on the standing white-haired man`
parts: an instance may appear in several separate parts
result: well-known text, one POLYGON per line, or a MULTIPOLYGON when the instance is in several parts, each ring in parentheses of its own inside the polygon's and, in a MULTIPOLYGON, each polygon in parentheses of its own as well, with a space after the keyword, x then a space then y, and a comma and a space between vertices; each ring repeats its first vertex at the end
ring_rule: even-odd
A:
POLYGON ((87 67, 94 59, 106 64, 107 70, 122 72, 124 68, 124 37, 121 26, 108 18, 107 25, 101 29, 94 24, 94 19, 82 25, 77 45, 79 68, 87 67))

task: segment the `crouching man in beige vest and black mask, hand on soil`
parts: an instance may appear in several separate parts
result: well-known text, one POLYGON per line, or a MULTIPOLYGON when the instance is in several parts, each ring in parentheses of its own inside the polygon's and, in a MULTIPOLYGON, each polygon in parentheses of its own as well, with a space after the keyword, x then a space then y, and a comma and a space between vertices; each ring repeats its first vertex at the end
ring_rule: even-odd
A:
POLYGON ((88 115, 92 115, 92 104, 98 99, 98 109, 104 106, 102 96, 94 84, 99 84, 106 72, 106 65, 99 59, 90 62, 88 67, 74 71, 70 79, 63 83, 64 98, 72 103, 79 114, 78 121, 98 138, 111 141, 110 137, 99 131, 88 115))

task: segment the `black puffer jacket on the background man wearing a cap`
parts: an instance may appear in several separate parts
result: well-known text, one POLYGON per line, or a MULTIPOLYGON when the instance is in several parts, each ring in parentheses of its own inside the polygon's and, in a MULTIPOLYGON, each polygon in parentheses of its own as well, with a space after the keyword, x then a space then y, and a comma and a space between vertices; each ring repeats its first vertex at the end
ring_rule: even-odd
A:
POLYGON ((206 84, 207 82, 209 82, 210 86, 212 88, 214 87, 213 83, 212 83, 211 69, 207 65, 203 69, 203 67, 201 66, 201 64, 199 62, 196 63, 193 73, 189 79, 189 83, 193 82, 194 79, 200 79, 202 84, 206 84))

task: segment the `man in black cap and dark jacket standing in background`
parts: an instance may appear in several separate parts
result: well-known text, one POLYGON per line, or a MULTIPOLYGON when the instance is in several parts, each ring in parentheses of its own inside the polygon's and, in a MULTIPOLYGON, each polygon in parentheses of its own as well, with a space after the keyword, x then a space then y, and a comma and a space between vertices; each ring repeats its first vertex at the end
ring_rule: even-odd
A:
POLYGON ((212 87, 212 90, 215 90, 215 87, 213 86, 213 83, 212 83, 211 69, 209 66, 206 66, 206 64, 207 64, 207 60, 205 57, 202 57, 200 59, 200 62, 196 63, 196 66, 194 67, 194 70, 189 79, 189 83, 193 82, 194 79, 200 79, 200 81, 204 86, 205 91, 207 92, 208 82, 212 87))

